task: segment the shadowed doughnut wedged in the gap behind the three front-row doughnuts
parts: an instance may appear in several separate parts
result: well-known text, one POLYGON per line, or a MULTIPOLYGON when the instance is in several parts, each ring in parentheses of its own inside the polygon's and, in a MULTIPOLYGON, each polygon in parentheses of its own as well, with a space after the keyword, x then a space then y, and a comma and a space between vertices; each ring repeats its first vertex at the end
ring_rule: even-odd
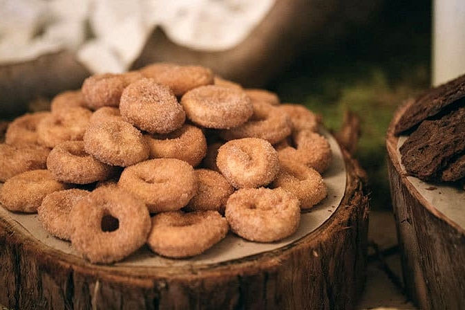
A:
POLYGON ((225 213, 226 201, 234 192, 227 179, 209 169, 196 169, 198 180, 197 193, 186 206, 186 210, 216 210, 225 213))

